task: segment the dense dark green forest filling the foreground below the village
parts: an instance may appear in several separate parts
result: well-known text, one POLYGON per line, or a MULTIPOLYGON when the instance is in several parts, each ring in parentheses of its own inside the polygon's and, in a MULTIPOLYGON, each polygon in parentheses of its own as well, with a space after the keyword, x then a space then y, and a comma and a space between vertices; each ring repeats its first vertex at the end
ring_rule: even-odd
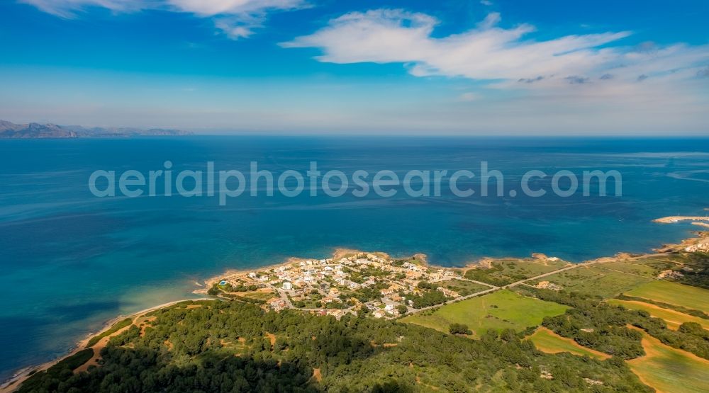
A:
POLYGON ((548 355, 511 330, 470 340, 396 321, 194 304, 112 337, 99 367, 38 373, 21 392, 651 391, 618 358, 548 355))

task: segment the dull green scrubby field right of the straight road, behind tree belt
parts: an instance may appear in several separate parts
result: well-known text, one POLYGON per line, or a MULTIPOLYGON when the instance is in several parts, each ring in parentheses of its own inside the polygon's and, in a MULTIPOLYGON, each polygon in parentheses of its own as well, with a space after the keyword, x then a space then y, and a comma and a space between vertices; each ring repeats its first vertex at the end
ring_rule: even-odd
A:
MULTIPOLYGON (((575 291, 586 295, 608 298, 620 295, 620 293, 644 283, 649 283, 652 279, 596 266, 582 266, 548 275, 542 280, 561 285, 564 290, 569 292, 575 291)), ((530 284, 534 285, 535 283, 530 284)))

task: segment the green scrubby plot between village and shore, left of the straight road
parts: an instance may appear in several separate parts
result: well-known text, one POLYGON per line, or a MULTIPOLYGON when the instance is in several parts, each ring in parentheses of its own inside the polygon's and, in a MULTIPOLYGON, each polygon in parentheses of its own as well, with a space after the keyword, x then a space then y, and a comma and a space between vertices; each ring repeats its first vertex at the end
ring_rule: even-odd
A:
POLYGON ((537 259, 501 259, 492 262, 490 268, 471 268, 464 277, 492 285, 503 286, 515 281, 549 273, 566 266, 564 261, 545 261, 537 259))

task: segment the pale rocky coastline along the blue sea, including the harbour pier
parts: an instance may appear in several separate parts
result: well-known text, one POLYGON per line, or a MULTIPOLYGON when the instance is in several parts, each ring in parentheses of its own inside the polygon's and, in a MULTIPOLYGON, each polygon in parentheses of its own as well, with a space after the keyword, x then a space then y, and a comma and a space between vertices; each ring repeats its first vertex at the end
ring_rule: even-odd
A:
MULTIPOLYGON (((705 210, 709 211, 709 207, 706 208, 705 210)), ((669 216, 669 217, 661 217, 656 220, 652 220, 652 222, 657 222, 657 223, 663 223, 663 224, 671 224, 671 223, 677 223, 685 220, 691 220, 691 221, 709 221, 709 217, 700 217, 700 216, 669 216)), ((703 222, 693 222, 692 224, 702 226, 702 227, 709 227, 709 224, 705 224, 703 222)), ((670 251, 682 251, 688 246, 694 246, 700 241, 703 241, 705 239, 709 239, 708 231, 695 231, 691 232, 695 236, 694 237, 688 237, 686 239, 683 239, 679 244, 663 244, 661 247, 657 249, 652 249, 652 252, 649 253, 644 253, 644 254, 632 254, 634 257, 644 257, 644 256, 654 256, 657 254, 662 254, 670 251)), ((704 244, 709 244, 709 242, 705 242, 704 244)), ((333 256, 331 258, 342 258, 344 256, 350 255, 350 254, 376 254, 379 256, 386 256, 389 258, 389 254, 386 254, 381 251, 360 251, 356 249, 344 249, 344 248, 337 248, 335 251, 333 251, 333 256)), ((544 258, 547 258, 544 254, 532 254, 531 258, 537 258, 535 255, 543 256, 544 258)), ((618 253, 615 254, 615 256, 603 256, 600 258, 596 258, 593 260, 588 260, 588 261, 581 261, 579 263, 567 263, 571 265, 581 265, 583 263, 588 263, 592 261, 605 261, 605 260, 610 260, 610 259, 615 259, 615 258, 623 258, 630 256, 631 254, 627 254, 623 251, 619 251, 618 253)), ((406 257, 403 257, 406 258, 406 257)), ((478 261, 472 261, 467 263, 464 266, 456 266, 456 267, 451 267, 451 266, 437 266, 435 264, 430 264, 428 263, 425 254, 413 254, 409 256, 408 258, 416 258, 418 261, 421 262, 422 266, 428 267, 428 268, 448 268, 448 269, 462 269, 462 270, 468 270, 470 268, 476 268, 478 266, 485 266, 486 264, 491 264, 493 261, 501 261, 501 260, 518 260, 522 261, 525 259, 528 259, 530 257, 501 257, 501 258, 491 258, 491 257, 484 257, 480 258, 478 261)), ((312 259, 312 258, 311 258, 312 259)), ((222 274, 220 275, 214 275, 211 278, 207 278, 206 280, 203 280, 204 286, 201 287, 200 289, 192 291, 192 293, 196 295, 206 295, 206 291, 208 290, 213 283, 218 283, 219 280, 222 278, 228 277, 230 275, 244 275, 250 272, 255 272, 259 270, 268 270, 268 269, 274 269, 274 268, 279 268, 281 266, 288 266, 293 263, 300 263, 301 261, 306 261, 308 258, 300 258, 300 257, 289 257, 286 258, 286 261, 281 262, 281 263, 272 263, 270 265, 265 265, 265 266, 258 266, 257 268, 250 268, 250 269, 228 269, 225 270, 222 274)), ((199 282, 195 282, 195 285, 201 285, 199 282)), ((71 355, 74 355, 75 353, 82 351, 85 347, 86 344, 93 338, 94 336, 97 336, 99 334, 104 333, 104 331, 107 331, 108 329, 111 329, 111 327, 116 324, 118 321, 121 321, 126 318, 133 318, 135 319, 136 317, 140 317, 140 315, 145 314, 147 312, 152 312, 155 311, 156 309, 162 309, 165 307, 169 307, 173 304, 177 304, 179 302, 185 302, 185 301, 198 301, 198 300, 216 300, 216 297, 195 297, 195 298, 186 298, 186 299, 181 299, 181 300, 174 300, 171 302, 166 302, 163 304, 157 304, 155 306, 147 307, 145 309, 142 309, 138 312, 134 312, 132 314, 127 314, 127 315, 118 315, 116 317, 113 317, 111 319, 108 319, 102 328, 99 331, 96 332, 91 332, 87 334, 82 340, 78 341, 74 348, 69 351, 69 353, 66 353, 65 355, 62 355, 58 358, 55 358, 54 360, 50 360, 46 363, 40 364, 40 365, 30 365, 25 368, 21 368, 17 370, 16 372, 13 373, 11 377, 9 377, 7 380, 1 382, 0 385, 0 393, 5 393, 5 392, 13 392, 15 391, 21 384, 31 375, 34 375, 35 372, 40 372, 43 370, 47 370, 48 368, 52 367, 52 365, 55 365, 59 363, 61 360, 68 358, 71 355)))

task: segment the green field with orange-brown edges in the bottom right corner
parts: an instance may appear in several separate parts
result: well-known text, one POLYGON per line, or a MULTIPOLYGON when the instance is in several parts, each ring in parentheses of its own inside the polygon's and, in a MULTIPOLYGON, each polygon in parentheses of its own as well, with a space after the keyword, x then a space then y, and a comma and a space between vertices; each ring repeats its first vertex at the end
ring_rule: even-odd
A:
POLYGON ((643 332, 647 355, 627 360, 630 370, 658 392, 706 392, 709 360, 671 348, 643 332))

